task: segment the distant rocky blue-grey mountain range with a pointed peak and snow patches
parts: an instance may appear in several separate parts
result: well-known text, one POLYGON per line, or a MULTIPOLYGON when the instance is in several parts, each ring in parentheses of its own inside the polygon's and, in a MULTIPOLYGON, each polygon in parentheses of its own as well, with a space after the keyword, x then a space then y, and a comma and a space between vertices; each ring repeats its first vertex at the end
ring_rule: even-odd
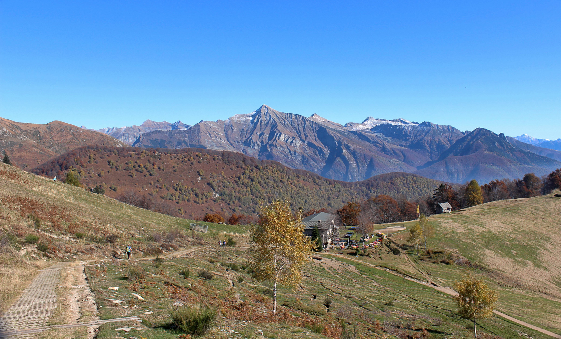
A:
POLYGON ((484 128, 462 132, 431 122, 373 117, 343 126, 318 114, 304 117, 266 105, 226 120, 142 133, 132 144, 241 152, 350 182, 394 171, 445 182, 488 182, 561 167, 561 152, 526 145, 484 128))

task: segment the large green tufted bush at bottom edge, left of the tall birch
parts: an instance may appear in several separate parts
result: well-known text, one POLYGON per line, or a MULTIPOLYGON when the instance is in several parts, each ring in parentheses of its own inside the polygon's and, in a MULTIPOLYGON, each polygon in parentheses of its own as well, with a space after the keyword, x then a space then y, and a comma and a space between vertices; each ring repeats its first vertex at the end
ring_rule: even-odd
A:
POLYGON ((195 336, 204 335, 216 319, 216 310, 209 307, 182 306, 172 311, 171 321, 181 331, 195 336))

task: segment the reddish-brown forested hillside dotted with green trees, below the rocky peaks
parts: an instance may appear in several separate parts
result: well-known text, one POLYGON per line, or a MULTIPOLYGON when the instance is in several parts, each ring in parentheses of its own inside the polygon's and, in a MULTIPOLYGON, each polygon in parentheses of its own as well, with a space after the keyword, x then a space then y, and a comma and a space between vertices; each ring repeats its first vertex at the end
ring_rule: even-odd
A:
POLYGON ((341 182, 279 162, 236 152, 183 148, 76 148, 45 162, 34 173, 64 178, 68 171, 84 187, 98 186, 110 197, 138 192, 167 202, 183 216, 207 212, 255 213, 260 201, 288 198, 293 208, 334 211, 349 201, 378 194, 411 201, 433 193, 440 182, 409 173, 387 173, 362 182, 341 182))

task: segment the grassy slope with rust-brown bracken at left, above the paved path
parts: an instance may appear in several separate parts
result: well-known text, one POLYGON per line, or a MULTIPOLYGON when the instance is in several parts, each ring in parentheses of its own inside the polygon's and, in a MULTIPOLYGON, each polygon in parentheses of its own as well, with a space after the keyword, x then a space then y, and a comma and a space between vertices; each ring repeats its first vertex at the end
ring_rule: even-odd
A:
MULTIPOLYGON (((85 192, 84 189, 54 183, 0 162, 0 236, 8 233, 15 237, 19 256, 2 253, 0 277, 0 312, 6 309, 25 288, 26 282, 48 261, 68 261, 111 257, 113 251, 122 253, 132 243, 135 256, 138 250, 150 252, 158 248, 146 240, 154 232, 167 233, 171 229, 188 230, 192 221, 170 217, 125 205, 114 199, 85 192), (28 215, 41 220, 36 227, 28 215), (77 239, 75 233, 86 233, 77 239), (39 236, 37 244, 27 244, 25 236, 39 236), (104 240, 116 234, 115 243, 104 240), (90 241, 93 240, 93 241, 90 241), (36 249, 39 243, 48 246, 43 253, 36 249), (39 260, 40 259, 40 260, 39 260)), ((205 222, 202 222, 205 224, 205 222)), ((184 234, 190 234, 184 231, 184 234)), ((176 240, 178 247, 196 241, 183 236, 176 240)))

